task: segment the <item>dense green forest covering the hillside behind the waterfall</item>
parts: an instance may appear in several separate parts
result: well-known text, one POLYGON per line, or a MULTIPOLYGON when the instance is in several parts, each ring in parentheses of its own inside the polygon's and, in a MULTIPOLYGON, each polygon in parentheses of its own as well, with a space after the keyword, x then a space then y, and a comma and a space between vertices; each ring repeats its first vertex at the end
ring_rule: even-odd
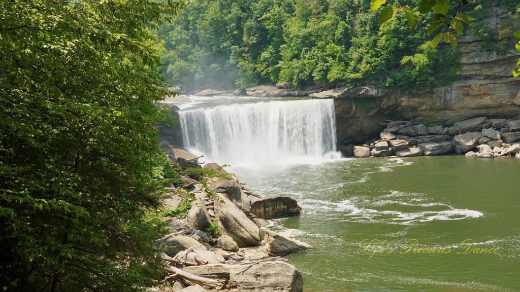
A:
MULTIPOLYGON (((428 45, 445 30, 442 26, 427 33, 434 14, 420 15, 416 29, 410 28, 405 14, 380 26, 370 2, 193 1, 173 23, 158 30, 165 42, 166 77, 186 90, 278 82, 421 88, 456 79, 459 50, 428 45)), ((412 1, 410 6, 417 11, 420 3, 412 1)), ((451 1, 447 15, 459 3, 451 1)), ((503 2, 511 15, 501 20, 502 33, 495 35, 485 22, 489 3, 473 1, 460 9, 485 40, 484 49, 514 48, 511 37, 518 26, 518 4, 503 2)))

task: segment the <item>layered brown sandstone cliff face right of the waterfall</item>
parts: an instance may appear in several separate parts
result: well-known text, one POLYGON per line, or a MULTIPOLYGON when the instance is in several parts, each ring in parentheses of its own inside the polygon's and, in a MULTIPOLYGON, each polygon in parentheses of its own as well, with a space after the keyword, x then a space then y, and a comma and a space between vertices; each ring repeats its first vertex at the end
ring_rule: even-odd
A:
MULTIPOLYGON (((488 26, 495 28, 508 12, 491 7, 488 26)), ((412 120, 453 125, 477 116, 512 118, 520 115, 520 77, 512 70, 519 55, 514 45, 504 55, 481 51, 482 40, 471 29, 459 38, 461 70, 450 86, 424 91, 354 88, 337 98, 337 136, 340 144, 365 142, 384 128, 385 120, 412 120)))

